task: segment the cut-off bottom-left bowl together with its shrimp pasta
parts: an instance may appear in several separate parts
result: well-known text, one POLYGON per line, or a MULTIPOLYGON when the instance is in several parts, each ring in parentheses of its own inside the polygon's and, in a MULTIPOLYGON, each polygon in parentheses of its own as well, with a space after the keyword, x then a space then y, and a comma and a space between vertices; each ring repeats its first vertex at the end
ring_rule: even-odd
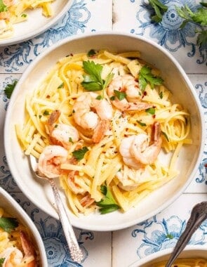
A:
POLYGON ((32 219, 0 187, 1 266, 48 266, 44 243, 32 219))

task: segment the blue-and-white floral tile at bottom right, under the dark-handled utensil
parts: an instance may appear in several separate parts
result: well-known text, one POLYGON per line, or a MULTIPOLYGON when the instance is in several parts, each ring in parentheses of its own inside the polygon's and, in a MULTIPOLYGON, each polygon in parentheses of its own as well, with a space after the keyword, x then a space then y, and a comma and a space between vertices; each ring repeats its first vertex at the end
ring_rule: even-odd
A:
MULTIPOLYGON (((134 261, 174 247, 185 229, 192 207, 206 201, 206 194, 183 194, 170 207, 147 221, 131 228, 113 232, 112 266, 126 267, 134 261)), ((207 221, 196 230, 189 245, 203 245, 207 249, 207 221)))

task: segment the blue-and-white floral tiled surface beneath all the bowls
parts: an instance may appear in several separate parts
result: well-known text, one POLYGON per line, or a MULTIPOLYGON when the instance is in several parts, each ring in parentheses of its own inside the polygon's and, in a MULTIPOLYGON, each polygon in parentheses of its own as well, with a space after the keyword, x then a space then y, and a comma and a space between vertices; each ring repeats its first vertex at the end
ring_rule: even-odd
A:
MULTIPOLYGON (((175 3, 181 5, 183 1, 162 0, 163 4, 170 8, 160 25, 150 22, 145 2, 143 0, 74 0, 74 4, 58 25, 44 34, 22 44, 0 47, 0 185, 15 197, 36 223, 46 247, 48 266, 79 265, 73 263, 69 257, 60 222, 36 209, 34 204, 20 193, 11 177, 3 143, 4 118, 8 105, 4 88, 6 84, 11 84, 13 79, 19 79, 25 68, 39 53, 62 38, 105 30, 127 32, 152 39, 178 59, 199 96, 207 129, 207 51, 199 51, 196 47, 196 36, 192 32, 192 25, 187 32, 178 30, 180 22, 173 5, 175 3), (51 226, 50 230, 47 230, 48 225, 51 226)), ((193 0, 185 0, 185 3, 192 8, 196 7, 196 2, 193 0)), ((178 200, 161 213, 139 225, 113 233, 75 229, 79 243, 84 249, 82 266, 126 267, 147 254, 173 247, 185 227, 192 206, 206 200, 207 178, 206 169, 203 167, 203 164, 207 163, 206 145, 203 149, 203 158, 192 183, 178 200)), ((206 247, 206 235, 207 224, 204 222, 192 238, 192 244, 203 244, 206 247)))

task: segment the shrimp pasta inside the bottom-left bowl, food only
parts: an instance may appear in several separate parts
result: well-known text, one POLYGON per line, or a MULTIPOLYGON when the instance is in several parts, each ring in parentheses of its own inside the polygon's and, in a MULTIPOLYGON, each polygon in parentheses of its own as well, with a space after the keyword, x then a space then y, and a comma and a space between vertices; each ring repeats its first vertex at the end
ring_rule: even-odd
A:
POLYGON ((28 229, 0 207, 0 266, 37 267, 39 259, 28 229))

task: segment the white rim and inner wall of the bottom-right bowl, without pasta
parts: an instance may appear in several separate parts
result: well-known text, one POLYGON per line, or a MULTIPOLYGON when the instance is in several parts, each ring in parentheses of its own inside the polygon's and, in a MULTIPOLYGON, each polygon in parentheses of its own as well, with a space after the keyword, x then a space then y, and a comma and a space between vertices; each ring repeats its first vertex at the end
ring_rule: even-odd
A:
MULTIPOLYGON (((171 253, 173 252, 173 248, 171 249, 163 249, 159 252, 155 252, 149 256, 146 256, 139 261, 135 261, 128 267, 152 267, 153 263, 158 263, 159 261, 167 261, 171 253)), ((182 258, 203 258, 207 260, 207 247, 203 247, 201 245, 189 245, 185 247, 185 249, 180 253, 178 259, 182 258)))

